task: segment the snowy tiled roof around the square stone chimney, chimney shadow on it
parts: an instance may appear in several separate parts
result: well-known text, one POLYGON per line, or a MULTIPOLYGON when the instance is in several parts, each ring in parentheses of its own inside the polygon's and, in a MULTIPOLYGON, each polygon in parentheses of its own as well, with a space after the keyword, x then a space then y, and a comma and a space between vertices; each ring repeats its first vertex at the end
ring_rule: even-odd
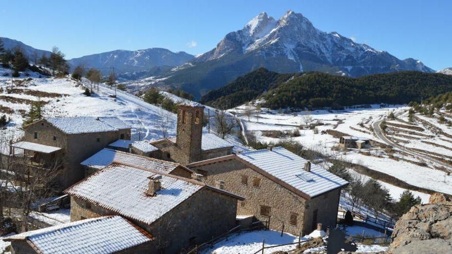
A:
POLYGON ((201 183, 162 174, 162 188, 156 196, 148 196, 148 177, 155 174, 113 163, 64 192, 124 217, 152 224, 204 187, 201 183))

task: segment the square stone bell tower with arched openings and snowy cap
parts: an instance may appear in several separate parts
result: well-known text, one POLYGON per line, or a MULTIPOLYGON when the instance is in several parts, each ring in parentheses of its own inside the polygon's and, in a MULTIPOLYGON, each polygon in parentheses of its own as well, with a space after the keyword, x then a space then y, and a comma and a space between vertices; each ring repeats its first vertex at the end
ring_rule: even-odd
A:
POLYGON ((203 117, 204 106, 198 103, 181 104, 177 110, 176 145, 187 164, 201 159, 203 117))

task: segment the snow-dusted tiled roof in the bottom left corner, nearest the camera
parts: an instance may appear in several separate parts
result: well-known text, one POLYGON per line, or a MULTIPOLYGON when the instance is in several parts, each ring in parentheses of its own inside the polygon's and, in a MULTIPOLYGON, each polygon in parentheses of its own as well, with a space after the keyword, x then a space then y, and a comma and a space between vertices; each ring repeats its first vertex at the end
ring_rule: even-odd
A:
POLYGON ((39 253, 95 254, 116 253, 152 237, 120 216, 107 216, 28 231, 7 240, 28 240, 39 253))

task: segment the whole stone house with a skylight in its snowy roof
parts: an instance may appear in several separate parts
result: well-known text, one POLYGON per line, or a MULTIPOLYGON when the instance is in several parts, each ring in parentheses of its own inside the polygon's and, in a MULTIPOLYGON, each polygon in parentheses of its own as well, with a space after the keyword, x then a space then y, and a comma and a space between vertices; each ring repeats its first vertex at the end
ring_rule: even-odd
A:
POLYGON ((341 188, 348 182, 282 148, 242 152, 187 165, 200 180, 246 198, 237 214, 270 221, 270 228, 305 235, 334 227, 341 188))

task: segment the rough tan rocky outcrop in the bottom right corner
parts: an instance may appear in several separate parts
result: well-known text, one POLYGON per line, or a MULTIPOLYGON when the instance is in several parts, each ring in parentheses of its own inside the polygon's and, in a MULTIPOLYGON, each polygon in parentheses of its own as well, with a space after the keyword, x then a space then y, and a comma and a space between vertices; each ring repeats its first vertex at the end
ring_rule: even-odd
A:
POLYGON ((452 253, 452 201, 442 193, 416 205, 397 222, 388 253, 452 253))

